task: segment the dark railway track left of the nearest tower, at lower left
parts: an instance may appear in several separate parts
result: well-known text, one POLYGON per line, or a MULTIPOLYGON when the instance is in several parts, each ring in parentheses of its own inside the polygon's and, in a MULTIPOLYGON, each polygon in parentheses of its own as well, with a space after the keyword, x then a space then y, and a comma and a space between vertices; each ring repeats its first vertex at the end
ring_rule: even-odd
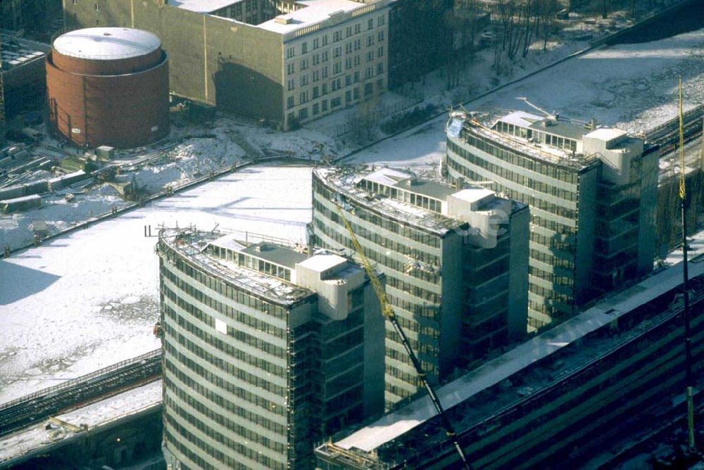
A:
POLYGON ((0 405, 0 436, 161 376, 161 350, 147 352, 0 405))

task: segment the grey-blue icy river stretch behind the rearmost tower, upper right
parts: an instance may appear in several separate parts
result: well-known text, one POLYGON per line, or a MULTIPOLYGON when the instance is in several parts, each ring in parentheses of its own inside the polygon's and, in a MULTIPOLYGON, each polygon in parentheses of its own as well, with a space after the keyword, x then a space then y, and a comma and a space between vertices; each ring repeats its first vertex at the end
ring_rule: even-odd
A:
POLYGON ((472 103, 517 108, 517 96, 552 112, 635 132, 677 115, 677 81, 685 108, 704 100, 704 30, 656 42, 607 46, 541 72, 472 103))

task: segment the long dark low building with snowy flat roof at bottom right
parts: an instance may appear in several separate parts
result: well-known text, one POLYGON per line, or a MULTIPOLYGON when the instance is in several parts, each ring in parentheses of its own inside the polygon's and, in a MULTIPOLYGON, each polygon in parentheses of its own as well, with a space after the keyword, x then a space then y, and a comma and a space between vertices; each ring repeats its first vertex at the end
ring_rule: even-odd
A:
MULTIPOLYGON (((701 312, 704 266, 689 269, 701 312)), ((681 284, 680 263, 439 387, 472 468, 615 468, 634 436, 684 417, 681 284)), ((704 315, 693 315, 691 338, 701 357, 704 315)), ((692 365, 698 383, 703 366, 692 365)), ((425 397, 345 434, 318 447, 318 469, 463 468, 425 397)))

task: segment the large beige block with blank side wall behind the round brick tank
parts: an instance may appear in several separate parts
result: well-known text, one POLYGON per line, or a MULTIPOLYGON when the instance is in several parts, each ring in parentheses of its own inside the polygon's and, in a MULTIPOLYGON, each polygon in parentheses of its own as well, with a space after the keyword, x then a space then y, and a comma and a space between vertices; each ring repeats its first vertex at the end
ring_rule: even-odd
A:
POLYGON ((170 58, 170 89, 291 129, 386 91, 389 0, 75 0, 69 29, 137 27, 170 58))

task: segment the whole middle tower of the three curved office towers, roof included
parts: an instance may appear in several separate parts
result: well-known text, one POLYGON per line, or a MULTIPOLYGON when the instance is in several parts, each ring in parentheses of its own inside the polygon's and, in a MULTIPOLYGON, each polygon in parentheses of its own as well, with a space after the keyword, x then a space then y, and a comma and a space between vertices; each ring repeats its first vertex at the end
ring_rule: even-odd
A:
MULTIPOLYGON (((389 168, 313 172, 313 238, 355 255, 338 210, 386 275, 386 293, 429 379, 525 334, 527 206, 389 168)), ((420 381, 386 322, 386 405, 420 381)))

